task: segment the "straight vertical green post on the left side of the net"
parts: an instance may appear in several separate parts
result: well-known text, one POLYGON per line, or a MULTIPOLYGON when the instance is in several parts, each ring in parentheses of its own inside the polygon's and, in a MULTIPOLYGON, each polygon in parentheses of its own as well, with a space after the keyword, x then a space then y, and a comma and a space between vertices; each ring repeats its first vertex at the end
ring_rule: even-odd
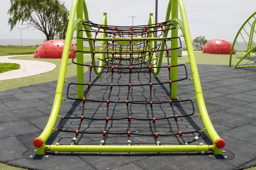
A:
MULTIPOLYGON (((76 11, 76 17, 82 19, 83 18, 83 0, 78 1, 77 11, 76 11)), ((83 29, 83 25, 77 26, 78 30, 76 31, 77 34, 79 34, 79 37, 83 37, 83 31, 79 31, 83 29)), ((76 39, 76 48, 78 51, 84 50, 84 42, 83 39, 76 39)), ((76 60, 79 64, 84 64, 84 54, 83 53, 77 53, 76 54, 76 60)), ((77 65, 77 83, 84 83, 84 66, 77 65)), ((84 97, 84 86, 83 85, 77 85, 77 97, 83 98, 84 97)))

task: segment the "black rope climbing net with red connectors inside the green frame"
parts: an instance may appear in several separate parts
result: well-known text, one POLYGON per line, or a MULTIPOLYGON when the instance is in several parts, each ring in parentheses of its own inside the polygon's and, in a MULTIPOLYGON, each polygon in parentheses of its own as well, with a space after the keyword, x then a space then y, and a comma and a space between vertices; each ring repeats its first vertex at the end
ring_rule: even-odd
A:
POLYGON ((169 29, 177 29, 175 25, 169 21, 133 27, 102 26, 90 21, 82 24, 90 27, 89 32, 94 32, 95 37, 76 38, 93 40, 93 51, 76 53, 92 53, 93 59, 102 60, 104 65, 93 65, 93 61, 79 64, 73 57, 74 64, 89 67, 84 84, 68 82, 67 86, 66 98, 75 100, 80 109, 66 116, 58 116, 60 121, 53 132, 58 130, 73 134, 71 144, 160 145, 174 144, 174 141, 188 144, 199 139, 204 130, 192 120, 192 117, 197 118, 193 99, 171 99, 172 83, 183 80, 191 82, 188 80, 186 64, 170 65, 169 54, 173 49, 167 47, 166 40, 176 38, 179 40, 179 48, 182 45, 180 37, 167 38, 164 28, 169 25, 169 29), (156 64, 158 59, 153 59, 153 54, 161 51, 160 44, 152 48, 148 40, 149 35, 155 31, 160 32, 156 39, 162 39, 166 47, 162 51, 167 53, 167 64, 163 63, 161 67, 156 64), (96 52, 96 39, 101 39, 97 38, 99 33, 113 39, 102 44, 101 51, 96 52), (117 37, 131 39, 128 45, 119 45, 117 37), (141 40, 133 44, 134 37, 141 37, 141 40), (104 58, 99 59, 97 53, 104 54, 104 58), (100 78, 96 77, 93 67, 102 68, 100 78), (171 67, 181 69, 176 80, 170 79, 171 67), (154 68, 161 68, 161 80, 154 78, 154 68), (83 98, 76 97, 74 91, 77 85, 86 88, 83 98), (181 105, 186 107, 182 108, 181 105), (191 122, 194 123, 191 125, 191 122))

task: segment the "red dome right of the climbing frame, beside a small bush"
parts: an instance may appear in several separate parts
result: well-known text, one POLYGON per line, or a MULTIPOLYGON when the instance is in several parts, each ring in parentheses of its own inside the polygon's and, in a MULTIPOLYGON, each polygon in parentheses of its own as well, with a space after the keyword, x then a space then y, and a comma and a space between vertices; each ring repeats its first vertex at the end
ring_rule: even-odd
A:
MULTIPOLYGON (((232 45, 230 42, 227 42, 226 40, 209 40, 205 45, 203 49, 203 53, 207 54, 230 54, 230 50, 232 48, 232 45)), ((233 49, 233 53, 236 54, 235 49, 233 49)))

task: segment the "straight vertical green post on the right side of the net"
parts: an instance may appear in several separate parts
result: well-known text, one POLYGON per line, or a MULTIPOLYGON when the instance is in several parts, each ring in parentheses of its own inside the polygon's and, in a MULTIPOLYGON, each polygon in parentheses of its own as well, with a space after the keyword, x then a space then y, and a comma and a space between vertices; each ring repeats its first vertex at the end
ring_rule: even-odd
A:
MULTIPOLYGON (((172 19, 178 17, 178 2, 177 0, 172 0, 172 19)), ((175 24, 175 23, 173 23, 175 24)), ((177 24, 175 24, 177 26, 177 24)), ((178 37, 178 29, 171 30, 171 37, 178 37)), ((171 48, 178 47, 178 39, 172 39, 171 48)), ((171 65, 178 64, 178 50, 171 51, 171 65)), ((178 67, 171 67, 171 80, 177 80, 178 67)), ((172 83, 172 99, 177 98, 177 82, 172 83)))

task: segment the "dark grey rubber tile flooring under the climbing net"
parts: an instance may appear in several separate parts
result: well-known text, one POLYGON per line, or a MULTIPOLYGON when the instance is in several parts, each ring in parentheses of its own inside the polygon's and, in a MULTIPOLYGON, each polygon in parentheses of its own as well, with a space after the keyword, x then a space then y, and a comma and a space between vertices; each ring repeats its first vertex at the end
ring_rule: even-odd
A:
MULTIPOLYGON (((188 77, 191 76, 187 65, 188 77)), ((185 76, 183 68, 178 68, 178 78, 185 76)), ((129 100, 153 101, 169 100, 169 84, 154 85, 157 82, 169 81, 168 70, 162 69, 159 78, 151 77, 153 91, 150 94, 149 86, 132 86, 129 100)), ((42 170, 236 170, 256 166, 256 69, 231 69, 229 66, 198 65, 201 85, 205 103, 215 130, 226 142, 222 155, 215 156, 211 152, 201 153, 47 153, 44 156, 35 154, 33 139, 38 137, 48 121, 56 82, 29 85, 8 91, 0 92, 0 161, 20 167, 42 170)), ((89 72, 84 74, 85 83, 88 83, 89 72)), ((76 81, 76 77, 67 78, 76 81)), ((102 85, 111 84, 111 73, 103 73, 102 77, 95 78, 93 83, 102 85)), ((132 84, 145 84, 149 82, 149 74, 134 74, 132 84)), ((113 84, 127 84, 128 74, 114 74, 113 84)), ((63 98, 67 97, 67 83, 64 85, 63 98)), ((87 87, 87 86, 86 86, 87 87)), ((85 94, 86 94, 86 88, 85 94)), ((113 86, 110 95, 112 101, 125 101, 128 87, 113 86)), ((87 99, 106 101, 110 92, 109 86, 92 86, 87 99)), ((195 96, 193 83, 189 80, 178 82, 179 100, 191 99, 195 96)), ((70 85, 69 97, 76 97, 76 85, 70 85)), ((86 116, 93 118, 106 117, 106 102, 85 102, 86 116)), ((197 102, 194 100, 195 114, 198 114, 197 102)), ((169 104, 154 104, 154 116, 166 117, 172 110, 169 104)), ((61 104, 60 116, 81 116, 83 105, 81 101, 67 99, 61 104)), ((190 102, 175 102, 175 113, 185 115, 192 112, 190 102)), ((131 116, 137 118, 152 118, 150 105, 130 104, 131 116)), ((109 117, 126 117, 125 103, 120 105, 110 103, 109 117)), ((172 116, 172 115, 169 115, 172 116)), ((55 127, 58 124, 56 122, 55 127)), ((76 130, 80 121, 64 119, 61 128, 76 130)), ((104 130, 105 120, 84 120, 81 130, 98 132, 104 130)), ((182 117, 179 121, 181 131, 201 130, 204 124, 200 117, 195 115, 182 117)), ((128 127, 127 119, 110 120, 107 130, 110 132, 125 132, 128 127)), ((156 121, 159 133, 177 132, 174 119, 156 121), (171 131, 170 131, 171 130, 171 131)), ((154 133, 152 121, 132 120, 132 132, 154 133)), ((185 136, 191 140, 195 134, 185 136)), ((47 140, 47 144, 71 144, 74 133, 56 131, 47 140)), ((102 134, 81 134, 78 144, 99 145, 102 134)), ((161 144, 183 144, 179 136, 160 136, 161 144)), ((153 136, 131 136, 133 145, 154 144, 153 136)), ((212 144, 207 133, 202 133, 200 140, 193 144, 212 144)), ((108 134, 106 144, 127 144, 127 135, 108 134)))

